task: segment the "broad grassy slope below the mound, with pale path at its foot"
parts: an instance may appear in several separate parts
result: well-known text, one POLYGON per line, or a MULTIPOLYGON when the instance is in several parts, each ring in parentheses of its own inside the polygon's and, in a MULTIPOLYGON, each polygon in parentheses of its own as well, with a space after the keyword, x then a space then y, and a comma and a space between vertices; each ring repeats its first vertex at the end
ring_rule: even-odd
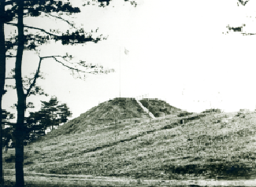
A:
MULTIPOLYGON (((180 119, 65 129, 35 141, 24 148, 27 186, 256 186, 255 112, 180 119)), ((65 128, 83 127, 72 123, 65 128)), ((3 159, 14 182, 14 150, 3 159)))

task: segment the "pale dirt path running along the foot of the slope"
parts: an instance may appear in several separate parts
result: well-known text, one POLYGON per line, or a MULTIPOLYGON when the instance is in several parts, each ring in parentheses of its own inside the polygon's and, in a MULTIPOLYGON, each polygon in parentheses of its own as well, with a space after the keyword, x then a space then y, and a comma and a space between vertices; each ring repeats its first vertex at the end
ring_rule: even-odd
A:
MULTIPOLYGON (((43 174, 24 170, 25 181, 29 184, 85 186, 85 185, 115 185, 115 186, 256 186, 256 179, 237 181, 216 180, 149 180, 132 178, 114 178, 92 175, 74 174, 43 174)), ((5 174, 5 179, 15 181, 14 170, 5 174)))

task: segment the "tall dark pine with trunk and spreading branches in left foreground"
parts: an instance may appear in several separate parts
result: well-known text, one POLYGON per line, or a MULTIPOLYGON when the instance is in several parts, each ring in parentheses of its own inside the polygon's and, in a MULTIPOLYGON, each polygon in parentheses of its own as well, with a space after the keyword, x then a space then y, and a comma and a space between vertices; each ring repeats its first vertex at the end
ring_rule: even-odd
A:
MULTIPOLYGON (((124 0, 128 2, 128 0, 124 0)), ((99 6, 105 7, 109 6, 110 0, 98 0, 99 6)), ((136 6, 134 1, 131 1, 131 4, 136 6)), ((85 5, 85 4, 84 4, 85 5)), ((52 31, 46 31, 43 28, 32 27, 24 24, 25 16, 53 16, 60 21, 65 21, 70 26, 73 27, 73 24, 69 20, 65 20, 61 17, 61 13, 80 13, 78 7, 72 7, 70 2, 62 2, 55 0, 0 0, 0 107, 2 106, 2 95, 6 93, 4 90, 5 79, 15 79, 14 89, 17 90, 17 124, 14 131, 14 136, 16 138, 15 144, 15 169, 16 169, 16 185, 24 186, 24 170, 23 170, 23 161, 24 161, 24 134, 26 128, 24 126, 25 119, 25 110, 27 108, 27 98, 32 94, 45 94, 39 86, 36 86, 36 80, 43 78, 40 74, 40 67, 42 61, 46 59, 54 59, 56 62, 62 64, 65 68, 68 68, 71 72, 80 74, 98 74, 98 73, 109 73, 113 70, 104 70, 101 67, 94 68, 87 67, 84 64, 84 61, 76 62, 76 66, 72 67, 71 65, 64 64, 63 61, 69 61, 72 59, 68 53, 65 56, 50 56, 50 57, 40 57, 39 56, 39 65, 32 78, 23 77, 21 73, 22 69, 22 59, 24 56, 24 50, 37 50, 37 47, 43 45, 50 40, 59 41, 61 40, 63 45, 85 43, 85 42, 99 42, 102 39, 106 39, 102 36, 92 37, 90 33, 85 33, 83 29, 76 29, 77 31, 62 33, 62 35, 57 35, 52 31), (8 6, 8 8, 7 8, 8 6), (59 13, 58 16, 53 15, 52 13, 59 13), (17 24, 11 22, 17 20, 17 24), (17 35, 13 35, 12 38, 5 39, 4 35, 4 26, 5 24, 13 25, 17 27, 17 35), (25 34, 24 29, 30 29, 35 31, 40 31, 40 35, 35 35, 32 33, 25 34), (6 55, 10 49, 17 50, 16 55, 6 55), (15 70, 13 71, 14 75, 6 78, 6 57, 15 58, 15 70), (61 61, 63 60, 63 61, 61 61), (83 70, 87 68, 86 70, 83 70), (94 71, 93 71, 94 70, 94 71)), ((72 64, 72 63, 70 63, 72 64)), ((2 108, 0 108, 2 109, 2 108)), ((1 114, 2 115, 2 114, 1 114)), ((0 130, 0 138, 2 138, 2 129, 0 130)), ((2 161, 2 152, 0 162, 2 161)), ((2 167, 2 164, 0 164, 2 167)), ((3 174, 2 168, 0 168, 0 180, 3 185, 3 174)))

